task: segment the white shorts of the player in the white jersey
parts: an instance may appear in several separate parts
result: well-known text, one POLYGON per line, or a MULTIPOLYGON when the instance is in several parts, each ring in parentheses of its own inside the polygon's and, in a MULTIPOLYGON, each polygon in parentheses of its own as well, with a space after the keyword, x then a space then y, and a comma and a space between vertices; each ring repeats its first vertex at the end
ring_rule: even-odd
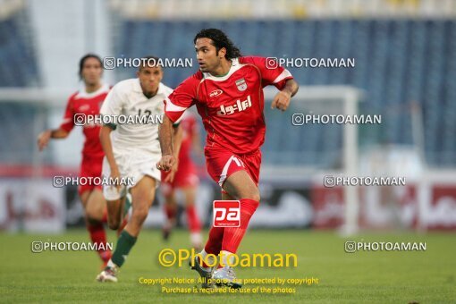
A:
MULTIPOLYGON (((127 191, 138 183, 141 178, 148 175, 156 180, 156 187, 160 183, 161 173, 156 168, 156 163, 160 161, 160 153, 151 153, 138 149, 129 149, 122 151, 122 153, 114 152, 115 163, 119 167, 121 179, 129 179, 132 183, 121 185, 117 189, 114 185, 103 185, 103 196, 106 200, 117 200, 123 198, 127 191)), ((111 176, 111 167, 107 162, 106 156, 103 159, 102 175, 104 177, 111 176)))

